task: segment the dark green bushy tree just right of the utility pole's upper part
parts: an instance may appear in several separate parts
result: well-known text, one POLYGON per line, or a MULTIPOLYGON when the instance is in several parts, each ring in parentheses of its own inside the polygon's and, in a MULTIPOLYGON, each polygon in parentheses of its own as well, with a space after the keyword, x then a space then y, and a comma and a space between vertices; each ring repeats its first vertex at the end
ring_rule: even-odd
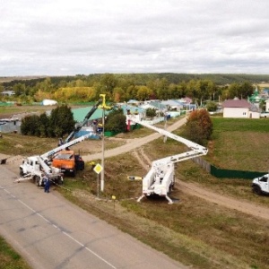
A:
POLYGON ((114 109, 108 114, 105 130, 116 133, 126 132, 126 116, 122 108, 114 109))

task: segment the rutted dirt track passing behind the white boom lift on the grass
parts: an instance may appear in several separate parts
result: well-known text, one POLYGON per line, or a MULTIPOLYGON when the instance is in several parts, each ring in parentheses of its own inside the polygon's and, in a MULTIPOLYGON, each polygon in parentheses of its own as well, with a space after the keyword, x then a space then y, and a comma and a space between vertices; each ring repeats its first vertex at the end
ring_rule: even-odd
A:
MULTIPOLYGON (((142 165, 143 169, 148 171, 149 165, 152 161, 145 154, 143 148, 136 150, 134 152, 134 156, 142 165)), ((212 190, 205 189, 204 187, 199 187, 194 183, 186 183, 181 180, 179 181, 178 179, 176 180, 180 185, 180 190, 182 190, 187 195, 195 195, 213 204, 219 204, 221 206, 225 206, 227 208, 237 210, 242 213, 247 213, 269 221, 269 208, 257 204, 247 203, 246 201, 239 201, 238 199, 232 198, 230 196, 219 195, 213 193, 212 190)))

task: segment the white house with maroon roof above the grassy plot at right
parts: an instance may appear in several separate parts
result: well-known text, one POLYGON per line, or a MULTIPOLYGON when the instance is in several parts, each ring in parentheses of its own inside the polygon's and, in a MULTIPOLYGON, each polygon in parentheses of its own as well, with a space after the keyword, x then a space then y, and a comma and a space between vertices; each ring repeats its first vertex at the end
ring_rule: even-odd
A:
POLYGON ((255 106, 247 100, 225 100, 222 103, 223 117, 259 118, 260 114, 255 106))

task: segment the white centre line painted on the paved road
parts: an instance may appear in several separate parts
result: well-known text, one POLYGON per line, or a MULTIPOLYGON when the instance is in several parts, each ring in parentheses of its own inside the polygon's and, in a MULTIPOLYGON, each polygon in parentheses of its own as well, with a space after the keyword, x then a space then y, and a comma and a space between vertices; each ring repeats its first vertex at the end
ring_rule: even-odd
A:
POLYGON ((4 191, 12 196, 14 199, 16 199, 18 202, 20 202, 21 204, 23 204, 25 207, 27 207, 32 213, 35 213, 37 215, 39 215, 39 217, 41 219, 43 219, 44 221, 48 222, 48 224, 52 225, 54 228, 56 228, 56 230, 60 230, 67 238, 72 239, 75 243, 77 243, 78 245, 80 245, 81 247, 85 248, 86 250, 88 250, 92 255, 97 256, 101 261, 103 261, 105 264, 109 265, 111 268, 117 269, 116 266, 111 265, 107 260, 105 260, 104 258, 102 258, 101 256, 99 256, 97 253, 95 253, 93 250, 91 250, 91 248, 86 247, 85 245, 83 245, 80 241, 78 241, 77 239, 74 239, 74 237, 72 237, 70 234, 66 233, 64 230, 61 230, 59 227, 56 226, 56 224, 52 223, 51 221, 49 221, 46 217, 44 217, 43 215, 41 215, 40 213, 36 212, 33 208, 31 208, 28 204, 25 204, 24 202, 22 202, 22 200, 20 200, 19 198, 17 198, 15 195, 12 195, 7 189, 5 189, 4 187, 0 186, 0 189, 4 189, 4 191))

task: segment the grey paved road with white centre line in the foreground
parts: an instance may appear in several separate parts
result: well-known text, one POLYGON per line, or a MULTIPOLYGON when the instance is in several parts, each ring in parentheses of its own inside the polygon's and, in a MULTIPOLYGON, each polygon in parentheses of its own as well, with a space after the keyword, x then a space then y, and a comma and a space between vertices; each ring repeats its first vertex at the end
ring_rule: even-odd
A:
MULTIPOLYGON (((0 165, 0 234, 32 268, 185 268, 0 165)), ((130 220, 131 221, 131 220, 130 220)))

